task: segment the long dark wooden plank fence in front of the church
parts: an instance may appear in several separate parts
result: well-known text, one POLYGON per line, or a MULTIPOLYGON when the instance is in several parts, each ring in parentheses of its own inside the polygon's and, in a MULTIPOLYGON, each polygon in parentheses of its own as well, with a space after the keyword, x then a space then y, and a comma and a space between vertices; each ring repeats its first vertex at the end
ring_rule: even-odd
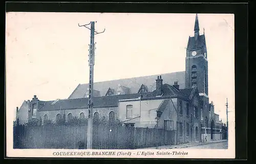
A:
MULTIPOLYGON (((87 126, 15 126, 14 149, 86 149, 87 126)), ((93 149, 136 149, 176 144, 176 131, 94 126, 93 149), (110 130, 111 129, 111 130, 110 130)))

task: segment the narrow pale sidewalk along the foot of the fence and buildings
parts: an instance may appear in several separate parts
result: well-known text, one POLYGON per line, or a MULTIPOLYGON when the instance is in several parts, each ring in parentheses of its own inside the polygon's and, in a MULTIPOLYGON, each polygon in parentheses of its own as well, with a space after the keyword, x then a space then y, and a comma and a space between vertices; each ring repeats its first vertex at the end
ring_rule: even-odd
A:
MULTIPOLYGON (((207 144, 212 144, 212 143, 220 143, 220 142, 225 142, 225 141, 227 141, 227 140, 194 142, 194 143, 186 143, 186 144, 179 144, 179 145, 164 145, 164 146, 159 146, 158 149, 180 149, 180 148, 186 148, 186 147, 191 147, 191 146, 207 145, 207 144)), ((140 149, 156 149, 156 147, 140 148, 140 149)))

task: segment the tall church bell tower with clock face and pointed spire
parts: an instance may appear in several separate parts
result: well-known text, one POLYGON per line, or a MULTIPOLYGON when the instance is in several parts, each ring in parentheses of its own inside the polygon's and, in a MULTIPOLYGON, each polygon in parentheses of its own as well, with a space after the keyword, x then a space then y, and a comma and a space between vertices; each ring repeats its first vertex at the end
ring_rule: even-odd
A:
POLYGON ((208 60, 205 35, 199 34, 199 21, 196 14, 194 36, 188 38, 186 48, 186 88, 197 87, 199 95, 208 98, 208 60))

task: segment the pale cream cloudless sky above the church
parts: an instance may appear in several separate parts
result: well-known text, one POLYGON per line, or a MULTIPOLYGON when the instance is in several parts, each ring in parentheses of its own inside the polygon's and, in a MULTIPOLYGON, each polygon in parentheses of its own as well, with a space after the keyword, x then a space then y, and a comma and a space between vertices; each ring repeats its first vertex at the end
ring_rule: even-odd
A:
MULTIPOLYGON (((185 71, 186 46, 196 14, 33 13, 6 14, 6 110, 37 95, 68 98, 89 81, 90 30, 95 23, 94 82, 185 71)), ((234 122, 234 15, 198 14, 206 37, 209 102, 234 122)))

